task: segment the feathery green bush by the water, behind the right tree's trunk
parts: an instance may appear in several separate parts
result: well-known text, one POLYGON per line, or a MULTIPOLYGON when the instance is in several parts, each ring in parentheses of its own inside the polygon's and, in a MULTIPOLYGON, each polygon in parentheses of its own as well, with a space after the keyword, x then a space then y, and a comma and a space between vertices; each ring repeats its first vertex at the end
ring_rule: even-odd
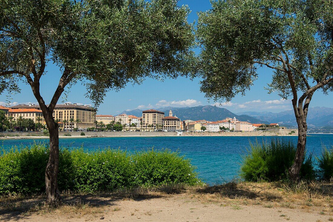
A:
MULTIPOLYGON (((278 181, 288 178, 288 169, 294 162, 296 147, 291 141, 272 139, 270 144, 250 143, 248 154, 243 157, 241 176, 246 181, 278 181)), ((314 179, 312 155, 304 158, 301 178, 314 179)))

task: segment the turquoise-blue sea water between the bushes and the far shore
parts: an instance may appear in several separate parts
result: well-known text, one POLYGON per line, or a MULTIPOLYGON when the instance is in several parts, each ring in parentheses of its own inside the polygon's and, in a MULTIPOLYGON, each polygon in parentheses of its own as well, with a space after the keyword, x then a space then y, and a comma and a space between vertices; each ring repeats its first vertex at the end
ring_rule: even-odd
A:
MULTIPOLYGON (((249 141, 270 140, 264 136, 170 136, 170 137, 93 137, 61 138, 60 145, 77 148, 84 145, 87 150, 111 147, 128 151, 168 148, 180 151, 197 167, 199 178, 209 184, 222 183, 237 178, 241 156, 246 153, 249 141)), ((296 142, 296 136, 285 136, 296 142)), ((14 145, 24 146, 34 142, 48 142, 47 139, 7 139, 3 140, 5 149, 14 145)), ((307 137, 307 150, 314 155, 321 153, 321 144, 333 145, 333 134, 311 134, 307 137)))

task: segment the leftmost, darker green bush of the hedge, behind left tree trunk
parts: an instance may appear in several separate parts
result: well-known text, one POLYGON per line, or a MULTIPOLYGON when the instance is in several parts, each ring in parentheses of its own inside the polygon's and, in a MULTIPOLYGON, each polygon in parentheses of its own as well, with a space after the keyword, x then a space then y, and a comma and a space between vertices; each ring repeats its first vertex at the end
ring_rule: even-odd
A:
MULTIPOLYGON (((59 188, 73 187, 73 167, 69 151, 60 150, 59 188)), ((49 149, 44 144, 12 148, 2 151, 0 156, 0 195, 9 193, 45 192, 45 168, 49 159, 49 149)))

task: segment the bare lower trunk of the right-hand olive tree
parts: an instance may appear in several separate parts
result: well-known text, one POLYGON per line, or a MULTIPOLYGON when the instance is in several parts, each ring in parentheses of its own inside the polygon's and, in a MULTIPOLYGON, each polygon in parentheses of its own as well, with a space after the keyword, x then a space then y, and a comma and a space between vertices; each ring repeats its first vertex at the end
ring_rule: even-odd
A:
POLYGON ((298 124, 298 141, 297 141, 297 150, 294 159, 294 164, 289 168, 289 174, 291 179, 296 182, 299 180, 299 172, 303 164, 303 158, 305 153, 306 145, 306 131, 308 129, 306 124, 305 116, 301 116, 297 120, 298 124))

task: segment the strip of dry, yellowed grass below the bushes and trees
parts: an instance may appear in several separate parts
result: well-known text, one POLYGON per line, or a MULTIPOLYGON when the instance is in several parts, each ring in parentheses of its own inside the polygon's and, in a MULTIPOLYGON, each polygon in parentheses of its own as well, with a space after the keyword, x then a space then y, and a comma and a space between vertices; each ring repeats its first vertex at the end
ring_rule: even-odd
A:
MULTIPOLYGON (((217 203, 220 206, 231 206, 232 209, 242 209, 242 205, 261 205, 262 207, 301 208, 313 210, 323 215, 333 215, 333 182, 301 182, 297 185, 286 183, 252 183, 230 182, 218 186, 186 185, 162 186, 153 188, 119 189, 113 192, 97 194, 62 193, 62 204, 50 208, 44 204, 45 196, 35 195, 23 197, 11 195, 0 198, 0 214, 41 214, 57 213, 86 215, 103 214, 106 210, 120 211, 114 201, 120 199, 152 199, 165 198, 170 195, 182 194, 199 199, 203 203, 217 203), (111 206, 111 207, 108 207, 111 206)), ((150 215, 151 212, 146 212, 150 215)), ((333 218, 330 217, 330 221, 333 218)))

